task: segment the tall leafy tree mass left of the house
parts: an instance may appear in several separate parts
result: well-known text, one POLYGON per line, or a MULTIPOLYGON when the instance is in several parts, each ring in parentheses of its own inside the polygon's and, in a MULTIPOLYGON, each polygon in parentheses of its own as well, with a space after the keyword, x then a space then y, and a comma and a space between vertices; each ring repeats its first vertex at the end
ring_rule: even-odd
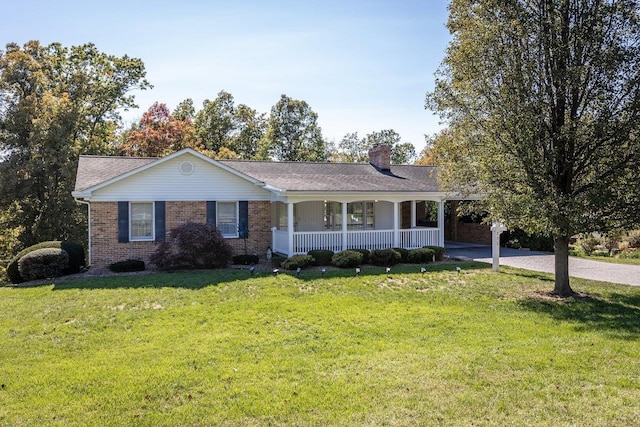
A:
MULTIPOLYGON (((82 241, 86 208, 71 197, 79 154, 106 154, 132 89, 150 87, 142 61, 37 41, 0 51, 0 211, 3 238, 20 249, 82 241)), ((8 258, 10 254, 0 254, 8 258)))

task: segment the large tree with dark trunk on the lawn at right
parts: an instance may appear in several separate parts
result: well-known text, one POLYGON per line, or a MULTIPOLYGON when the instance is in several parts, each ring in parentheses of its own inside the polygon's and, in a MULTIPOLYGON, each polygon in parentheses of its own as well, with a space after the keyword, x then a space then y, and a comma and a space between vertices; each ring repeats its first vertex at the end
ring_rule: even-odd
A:
POLYGON ((573 293, 569 238, 639 221, 640 23, 633 0, 453 0, 453 35, 427 106, 449 189, 494 219, 552 236, 573 293))

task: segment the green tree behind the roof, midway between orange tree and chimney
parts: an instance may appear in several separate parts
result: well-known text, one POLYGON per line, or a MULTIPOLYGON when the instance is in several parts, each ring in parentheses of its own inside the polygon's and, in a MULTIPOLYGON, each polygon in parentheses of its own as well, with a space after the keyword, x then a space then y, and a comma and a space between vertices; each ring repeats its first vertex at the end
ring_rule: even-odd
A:
POLYGON ((317 121, 318 115, 305 101, 282 95, 271 108, 258 156, 280 161, 325 161, 325 141, 317 121))

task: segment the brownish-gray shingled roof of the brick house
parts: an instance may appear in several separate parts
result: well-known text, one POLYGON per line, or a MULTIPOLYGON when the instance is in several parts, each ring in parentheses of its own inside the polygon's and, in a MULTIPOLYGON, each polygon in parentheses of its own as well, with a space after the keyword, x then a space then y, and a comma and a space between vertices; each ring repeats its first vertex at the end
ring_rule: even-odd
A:
MULTIPOLYGON (((75 191, 116 178, 157 158, 80 156, 75 191)), ((220 160, 253 179, 284 191, 309 192, 439 192, 437 169, 391 166, 380 171, 364 163, 307 163, 220 160)))

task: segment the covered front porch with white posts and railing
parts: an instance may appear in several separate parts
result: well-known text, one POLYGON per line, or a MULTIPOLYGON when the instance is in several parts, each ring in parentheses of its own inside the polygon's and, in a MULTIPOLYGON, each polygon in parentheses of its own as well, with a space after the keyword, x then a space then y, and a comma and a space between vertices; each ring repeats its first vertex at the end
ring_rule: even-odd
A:
POLYGON ((444 200, 274 202, 272 224, 272 250, 286 256, 444 246, 444 200))

